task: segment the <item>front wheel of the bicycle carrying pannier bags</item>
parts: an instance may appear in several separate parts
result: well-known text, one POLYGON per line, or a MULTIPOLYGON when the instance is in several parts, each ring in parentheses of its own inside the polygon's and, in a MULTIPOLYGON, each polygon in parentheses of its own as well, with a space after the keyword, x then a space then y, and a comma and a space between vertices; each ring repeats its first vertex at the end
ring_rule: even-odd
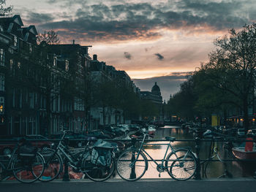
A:
POLYGON ((41 150, 40 153, 43 158, 45 158, 45 171, 39 180, 42 182, 55 180, 63 170, 63 161, 61 156, 56 153, 56 150, 50 148, 41 150))

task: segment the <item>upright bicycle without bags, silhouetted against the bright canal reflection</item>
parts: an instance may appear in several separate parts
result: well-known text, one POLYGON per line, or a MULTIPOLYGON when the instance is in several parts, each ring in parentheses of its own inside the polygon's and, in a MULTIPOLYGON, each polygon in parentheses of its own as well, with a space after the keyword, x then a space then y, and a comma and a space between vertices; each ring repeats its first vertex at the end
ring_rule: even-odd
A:
POLYGON ((135 181, 143 177, 148 169, 148 159, 146 155, 157 165, 159 177, 161 172, 167 172, 174 180, 189 180, 194 176, 197 163, 191 149, 179 148, 175 150, 170 143, 174 142, 176 138, 165 137, 169 143, 165 151, 165 156, 161 160, 161 164, 158 164, 143 148, 147 136, 149 135, 143 133, 143 140, 139 148, 131 147, 119 156, 116 163, 116 170, 122 179, 135 181), (167 155, 169 148, 171 152, 167 155))

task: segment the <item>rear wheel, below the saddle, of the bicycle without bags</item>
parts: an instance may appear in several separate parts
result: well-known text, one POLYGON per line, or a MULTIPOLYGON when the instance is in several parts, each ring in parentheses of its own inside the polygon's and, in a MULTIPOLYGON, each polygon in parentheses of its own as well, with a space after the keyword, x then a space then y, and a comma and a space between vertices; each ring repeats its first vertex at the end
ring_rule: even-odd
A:
POLYGON ((167 172, 174 180, 189 180, 194 176, 196 168, 197 162, 195 155, 189 153, 173 161, 173 164, 171 164, 170 169, 167 169, 167 172))

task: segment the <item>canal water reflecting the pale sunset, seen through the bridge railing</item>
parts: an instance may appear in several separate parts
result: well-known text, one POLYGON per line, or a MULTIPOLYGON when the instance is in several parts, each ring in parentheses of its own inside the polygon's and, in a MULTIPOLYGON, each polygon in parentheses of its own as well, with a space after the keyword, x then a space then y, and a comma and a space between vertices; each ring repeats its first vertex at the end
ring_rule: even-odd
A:
MULTIPOLYGON (((182 129, 180 126, 165 126, 163 128, 157 128, 154 139, 165 139, 166 136, 176 137, 176 139, 194 139, 192 133, 189 131, 182 129)), ((144 147, 146 152, 151 155, 154 159, 162 159, 165 156, 165 151, 167 145, 152 145, 152 144, 167 144, 167 142, 148 142, 148 144, 144 147)), ((195 152, 195 142, 172 142, 173 147, 191 147, 195 152)), ((201 142, 200 143, 200 159, 207 159, 209 155, 209 151, 211 151, 211 142, 201 142)), ((231 150, 223 147, 223 142, 216 142, 214 144, 219 150, 219 156, 221 159, 236 159, 231 150)), ((170 153, 170 150, 169 152, 170 153)), ((167 153, 167 154, 168 154, 167 153)), ((150 158, 148 158, 149 160, 150 158)), ((214 158, 217 159, 217 158, 214 158)), ((160 162, 159 162, 160 163, 160 162)), ((219 177, 222 174, 225 174, 225 169, 230 172, 233 177, 252 177, 254 172, 256 171, 256 162, 226 162, 226 164, 222 164, 220 161, 214 161, 209 164, 209 172, 207 172, 208 177, 219 177)), ((203 167, 203 166, 201 166, 203 167)), ((202 170, 201 170, 201 175, 202 170)), ((156 164, 154 162, 148 162, 148 170, 146 174, 144 174, 143 178, 158 178, 159 172, 157 172, 156 164)), ((167 172, 161 173, 161 178, 170 177, 167 172)))

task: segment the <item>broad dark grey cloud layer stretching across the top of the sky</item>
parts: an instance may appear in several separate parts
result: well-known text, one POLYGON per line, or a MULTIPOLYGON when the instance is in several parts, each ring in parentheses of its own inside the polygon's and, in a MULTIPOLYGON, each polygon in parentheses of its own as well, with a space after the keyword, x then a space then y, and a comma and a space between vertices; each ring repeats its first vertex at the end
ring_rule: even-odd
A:
MULTIPOLYGON (((160 28, 186 31, 196 31, 200 28, 201 31, 219 31, 240 28, 244 23, 250 23, 248 18, 241 14, 243 3, 240 1, 181 0, 155 5, 149 3, 90 5, 86 4, 85 0, 64 2, 64 4, 70 2, 79 4, 80 8, 75 12, 75 18, 64 17, 57 22, 53 21, 53 18, 51 21, 47 18, 48 23, 42 22, 43 24, 39 26, 45 30, 61 28, 59 34, 63 39, 69 38, 72 34, 76 39, 88 39, 88 41, 148 40, 162 37, 159 33, 160 28)), ((39 21, 36 15, 33 18, 31 16, 33 15, 29 17, 31 21, 39 21)))

